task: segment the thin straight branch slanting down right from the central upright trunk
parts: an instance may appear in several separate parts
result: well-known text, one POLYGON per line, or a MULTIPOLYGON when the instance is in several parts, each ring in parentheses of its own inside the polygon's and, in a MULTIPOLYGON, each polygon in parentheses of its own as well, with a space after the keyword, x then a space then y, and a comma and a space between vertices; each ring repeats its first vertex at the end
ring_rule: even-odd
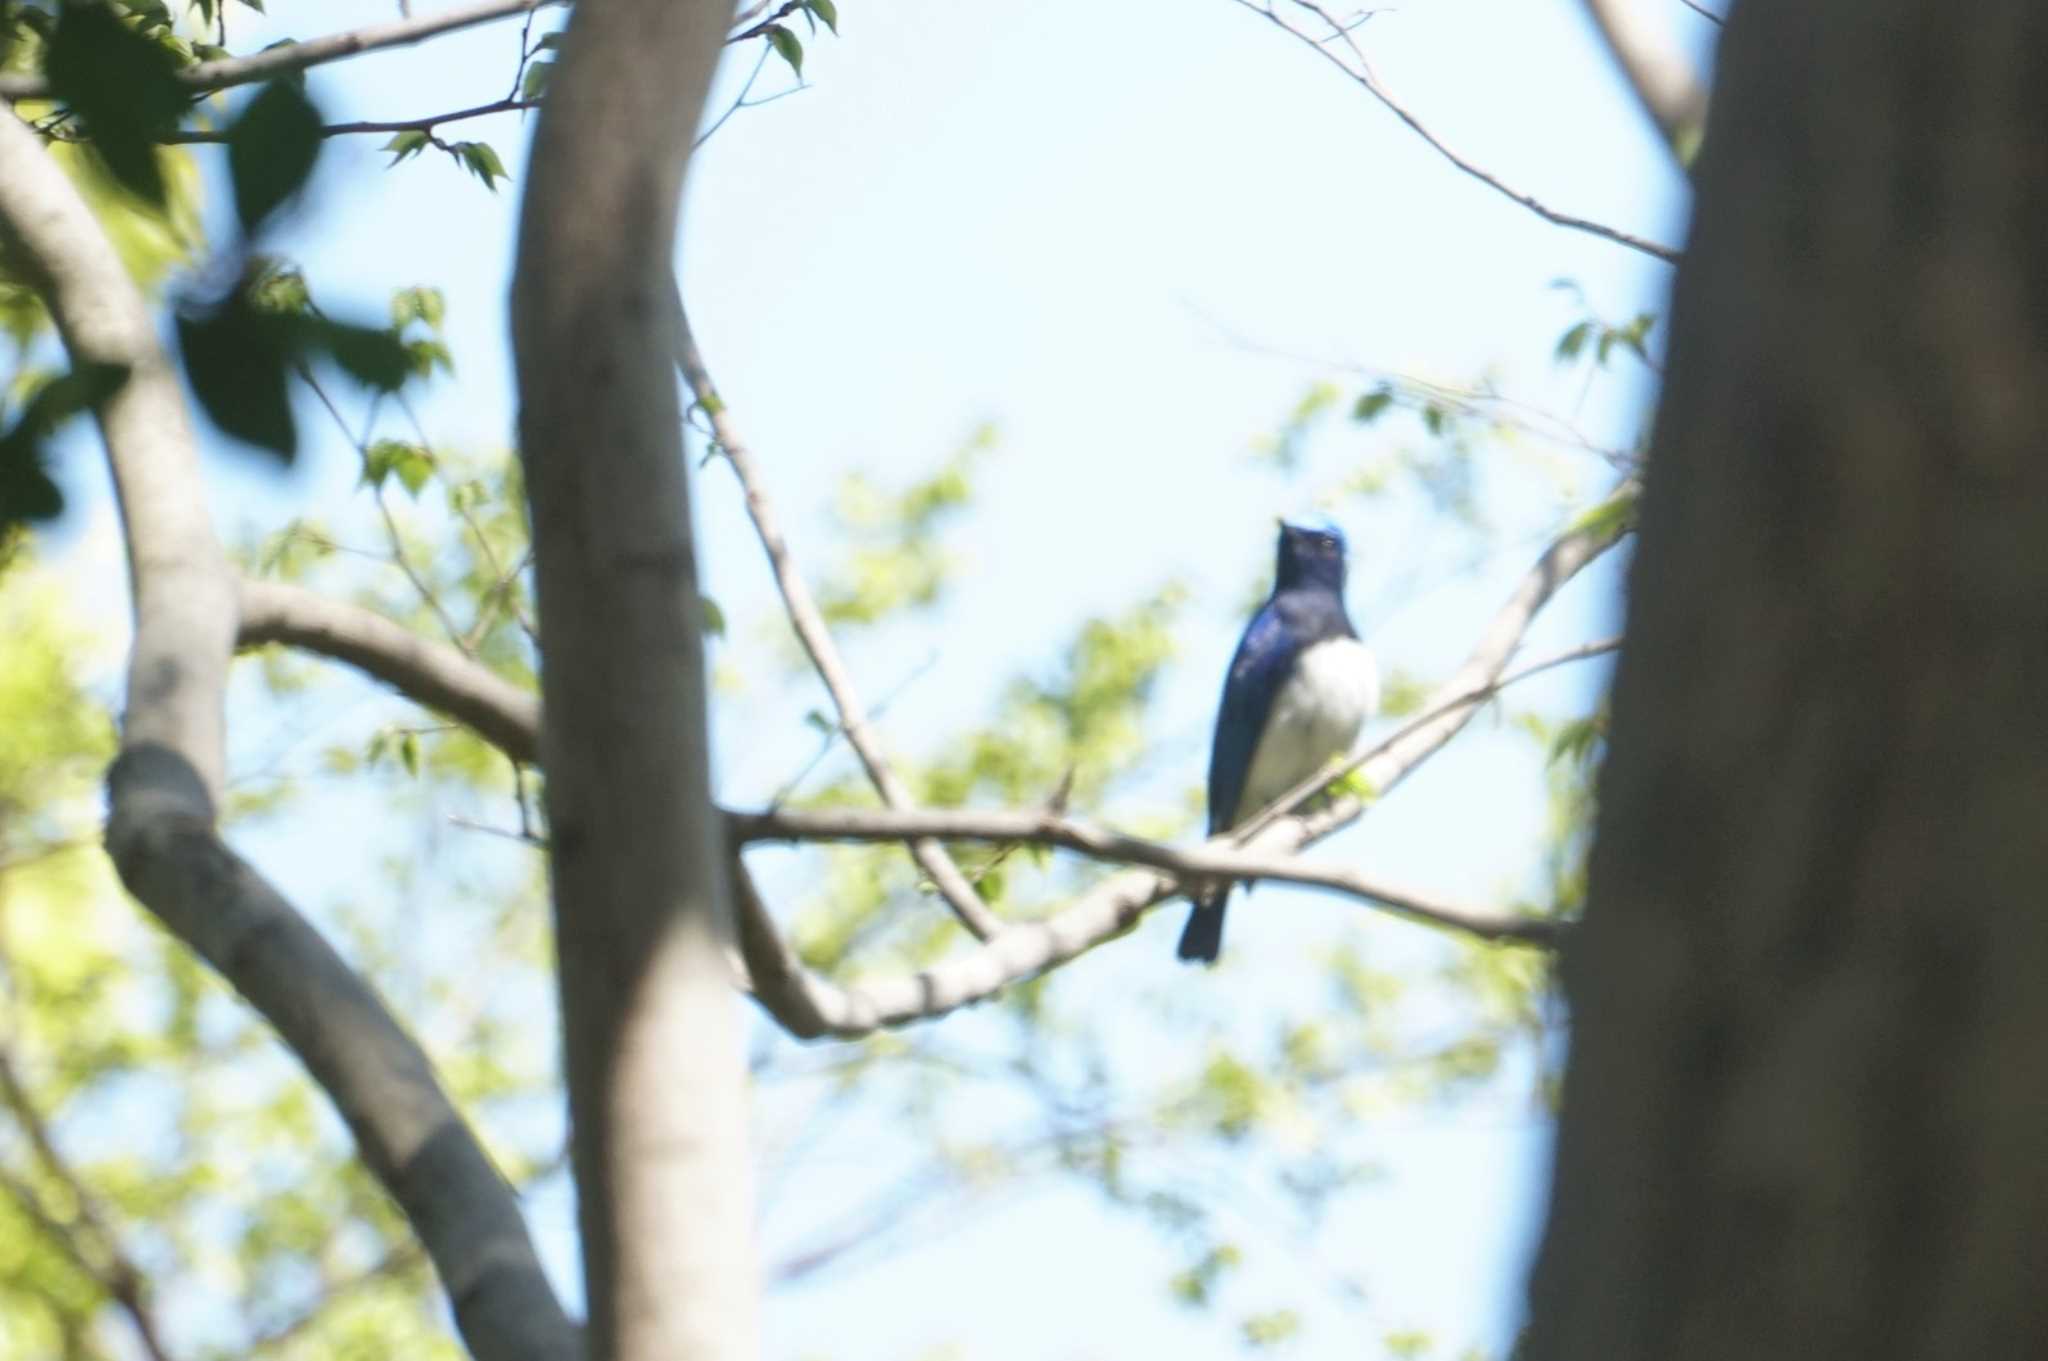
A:
MULTIPOLYGON (((860 755, 860 765, 866 767, 868 780, 874 790, 883 796, 883 802, 891 808, 911 808, 913 800, 897 774, 889 767, 889 757, 883 755, 881 743, 874 731, 868 727, 866 710, 860 706, 860 696, 854 692, 854 679, 846 673, 846 663, 840 661, 840 649, 831 643, 831 630, 825 626, 825 616, 819 612, 817 602, 811 600, 811 587, 805 585, 803 573, 797 571, 797 559, 788 551, 788 540, 782 536, 782 526, 776 520, 774 506, 768 501, 766 483, 762 479, 760 467, 754 463, 754 454, 739 440, 733 430, 731 413, 725 407, 725 399, 719 397, 717 385, 711 381, 711 370, 705 366, 705 356, 696 348, 696 336, 690 334, 690 317, 682 309, 682 295, 676 295, 676 366, 682 368, 684 381, 690 391, 696 393, 696 403, 702 407, 705 415, 711 420, 711 434, 717 440, 719 452, 725 454, 725 463, 731 465, 733 477, 739 479, 741 491, 745 491, 748 516, 754 520, 754 530, 762 540, 762 548, 768 553, 768 565, 774 569, 776 587, 782 591, 782 606, 788 610, 788 622, 797 630, 797 639, 803 643, 803 651, 811 655, 811 665, 817 667, 817 677, 825 682, 825 690, 831 694, 834 708, 840 710, 840 729, 846 733, 848 745, 860 755)), ((967 882, 961 868, 952 864, 938 841, 930 837, 909 843, 911 855, 918 866, 932 876, 932 884, 944 894, 946 903, 952 905, 954 915, 961 923, 975 933, 975 939, 991 939, 1001 929, 1004 923, 995 919, 995 913, 987 909, 975 886, 967 882)))

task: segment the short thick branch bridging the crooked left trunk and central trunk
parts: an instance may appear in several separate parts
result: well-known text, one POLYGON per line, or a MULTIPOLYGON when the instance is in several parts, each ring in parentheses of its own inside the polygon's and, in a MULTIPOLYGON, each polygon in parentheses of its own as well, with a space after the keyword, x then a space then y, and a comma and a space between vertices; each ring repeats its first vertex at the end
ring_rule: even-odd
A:
POLYGON ((541 700, 455 647, 430 643, 375 610, 328 600, 303 585, 242 581, 238 643, 289 643, 346 661, 426 708, 477 731, 514 761, 541 755, 541 700))

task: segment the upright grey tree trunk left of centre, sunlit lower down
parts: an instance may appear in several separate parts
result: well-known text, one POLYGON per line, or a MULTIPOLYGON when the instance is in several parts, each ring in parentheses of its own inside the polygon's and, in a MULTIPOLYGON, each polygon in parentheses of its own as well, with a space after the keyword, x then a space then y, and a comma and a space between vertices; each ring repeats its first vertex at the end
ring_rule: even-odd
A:
POLYGON ((760 1351, 748 1093, 711 804, 674 250, 731 8, 586 0, 512 284, 541 757, 592 1355, 760 1351))

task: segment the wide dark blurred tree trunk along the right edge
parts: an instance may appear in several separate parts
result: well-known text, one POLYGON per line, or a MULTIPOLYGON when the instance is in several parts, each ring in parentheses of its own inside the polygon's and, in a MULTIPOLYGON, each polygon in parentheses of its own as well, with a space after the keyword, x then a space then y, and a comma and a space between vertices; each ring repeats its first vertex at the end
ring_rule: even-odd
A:
POLYGON ((1528 1355, 2048 1355, 2048 6, 1743 6, 1698 190, 1528 1355))

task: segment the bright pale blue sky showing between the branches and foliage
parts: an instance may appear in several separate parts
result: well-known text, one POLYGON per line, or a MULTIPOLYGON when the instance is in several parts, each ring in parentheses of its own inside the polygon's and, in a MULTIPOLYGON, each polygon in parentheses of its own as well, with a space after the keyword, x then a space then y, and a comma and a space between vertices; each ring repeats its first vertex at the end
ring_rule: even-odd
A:
MULTIPOLYGON (((1710 43, 1712 29, 1677 0, 1645 2, 1667 2, 1667 23, 1710 43)), ((231 45, 389 16, 389 4, 281 0, 270 18, 236 10, 231 45)), ((559 12, 541 20, 555 23, 559 12)), ((1202 776, 1217 682, 1276 514, 1346 524, 1354 614, 1382 663, 1442 675, 1542 536, 1610 473, 1556 454, 1554 481, 1532 477, 1526 495, 1489 508, 1503 526, 1497 551, 1454 573, 1413 526, 1315 503, 1315 489, 1374 440, 1413 440, 1411 424, 1333 434, 1300 479, 1249 456, 1335 368, 1491 377, 1599 444, 1634 440, 1645 375, 1618 368, 1589 383, 1583 370, 1561 372, 1550 352, 1581 311, 1550 284, 1571 278, 1597 313, 1626 319, 1661 309, 1667 268, 1550 227, 1460 176, 1233 0, 844 0, 842 31, 807 45, 805 90, 737 113, 702 149, 680 260, 711 366, 801 555, 819 557, 842 473, 907 481, 979 424, 999 434, 979 510, 948 538, 961 575, 946 606, 907 649, 852 649, 868 698, 913 686, 885 720, 893 745, 928 749, 983 718, 999 684, 1042 667, 1085 612, 1178 579, 1194 606, 1151 757, 1161 796, 1178 798, 1202 776)), ((1681 242, 1683 182, 1579 4, 1415 0, 1380 10, 1358 39, 1434 131, 1516 188, 1681 242)), ((516 51, 518 23, 496 25, 315 70, 309 88, 330 121, 418 117, 502 96, 516 51)), ((733 51, 713 108, 731 102, 756 53, 733 51)), ((770 63, 756 92, 786 86, 770 63)), ((440 446, 492 448, 514 424, 504 297, 528 129, 498 117, 449 133, 492 141, 512 182, 489 194, 432 153, 387 172, 381 139, 336 139, 281 248, 332 311, 375 317, 397 287, 442 287, 459 370, 422 403, 424 420, 440 446)), ((352 454, 324 426, 307 430, 315 446, 283 479, 246 452, 209 458, 225 534, 348 495, 352 454)), ((111 499, 90 444, 68 448, 78 510, 55 536, 55 561, 113 620, 125 587, 111 499)), ((696 516, 707 587, 733 622, 719 659, 772 655, 778 606, 721 469, 696 477, 696 516)), ((1610 632, 1616 583, 1612 563, 1589 573, 1542 620, 1530 653, 1610 632)), ((1583 704, 1597 677, 1591 667, 1556 675, 1528 698, 1583 704)), ((803 763, 813 735, 801 716, 819 698, 795 686, 725 704, 727 800, 762 800, 803 763)), ((336 804, 373 821, 373 800, 336 804)), ((1501 901, 1528 884, 1542 813, 1540 765, 1481 725, 1323 853, 1501 901)), ((336 858, 303 819, 244 845, 313 909, 360 864, 336 858)), ((1212 989, 1255 1015, 1290 989, 1305 931, 1352 931, 1393 956, 1417 937, 1313 894, 1262 888, 1253 909, 1233 913, 1231 960, 1217 974, 1174 964, 1178 911, 1165 911, 1075 964, 1071 986, 1212 989)), ((862 1144, 874 1136, 848 1132, 829 1177, 856 1177, 881 1156, 862 1144)), ((1464 1343, 1497 1349, 1540 1210, 1540 1122, 1526 1105, 1405 1113, 1374 1150, 1391 1173, 1384 1187, 1317 1244, 1321 1261, 1364 1281, 1366 1302, 1315 1306, 1317 1291, 1303 1291, 1309 1332, 1296 1353, 1360 1355, 1364 1336, 1407 1326, 1436 1330, 1444 1355, 1464 1343)), ((829 1193, 825 1179, 778 1191, 764 1228, 770 1259, 815 1228, 801 1201, 829 1193)), ((1178 1263, 1159 1238, 1106 1216, 1085 1189, 969 1205, 928 1246, 776 1291, 770 1357, 883 1361, 946 1343, 993 1361, 1237 1355, 1231 1328, 1169 1300, 1161 1281, 1178 1263)), ((535 1212, 573 1296, 567 1197, 543 1195, 535 1212)), ((1274 1287, 1305 1271, 1286 1253, 1260 1261, 1245 1283, 1251 1302, 1260 1271, 1278 1273, 1266 1281, 1274 1287)))

